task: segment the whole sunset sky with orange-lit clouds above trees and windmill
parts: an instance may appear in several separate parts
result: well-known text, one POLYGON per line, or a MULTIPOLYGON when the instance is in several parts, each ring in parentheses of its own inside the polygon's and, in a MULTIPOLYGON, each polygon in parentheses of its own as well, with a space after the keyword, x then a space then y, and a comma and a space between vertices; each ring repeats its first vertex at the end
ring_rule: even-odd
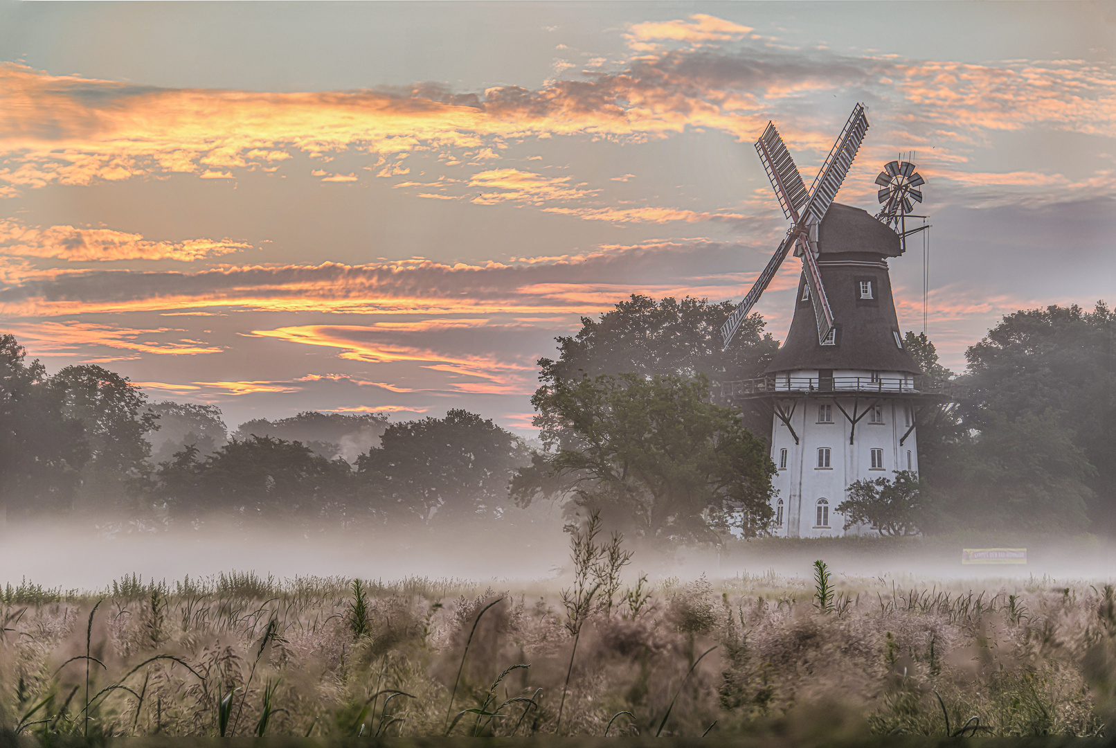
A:
MULTIPOLYGON (((1116 301, 1116 4, 0 0, 0 333, 230 428, 464 407, 530 435, 536 361, 631 294, 739 300, 787 230, 773 121, 837 196, 907 155, 889 262, 943 363, 1116 301)), ((756 310, 786 335, 800 268, 756 310)))

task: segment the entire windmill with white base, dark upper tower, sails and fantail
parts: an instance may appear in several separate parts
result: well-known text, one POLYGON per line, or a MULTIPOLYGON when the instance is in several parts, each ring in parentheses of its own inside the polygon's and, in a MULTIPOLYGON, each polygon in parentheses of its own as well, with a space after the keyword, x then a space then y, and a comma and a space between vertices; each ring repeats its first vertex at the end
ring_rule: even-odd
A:
POLYGON ((728 347, 793 248, 802 277, 787 339, 764 378, 727 383, 725 391, 730 399, 760 397, 773 406, 772 529, 779 536, 841 535, 835 508, 852 482, 918 469, 915 405, 925 395, 914 377, 922 372, 903 347, 887 258, 904 252, 902 222, 911 200, 921 201, 914 188, 922 178, 908 162, 894 163, 894 171, 888 164, 876 218, 833 202, 867 128, 857 104, 809 190, 773 124, 756 142, 793 226, 721 333, 728 347))

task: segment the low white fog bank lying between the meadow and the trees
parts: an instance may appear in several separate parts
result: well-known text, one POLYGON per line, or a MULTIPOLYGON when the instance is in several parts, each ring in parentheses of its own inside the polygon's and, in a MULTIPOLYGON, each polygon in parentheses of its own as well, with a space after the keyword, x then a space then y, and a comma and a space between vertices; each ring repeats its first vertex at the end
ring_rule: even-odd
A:
MULTIPOLYGON (((513 531, 499 527, 413 528, 396 531, 308 530, 304 527, 231 527, 227 520, 196 526, 140 529, 134 522, 9 522, 0 529, 0 585, 21 579, 46 587, 96 591, 125 575, 172 583, 221 572, 254 572, 277 578, 341 576, 382 579, 406 577, 462 579, 506 587, 555 589, 568 584, 570 536, 556 507, 533 512, 530 525, 513 531), (527 527, 533 527, 528 530, 527 527)), ((821 558, 840 578, 887 577, 926 584, 994 585, 999 578, 1109 581, 1116 578, 1116 543, 1094 536, 1019 538, 887 538, 733 540, 720 549, 677 547, 664 550, 632 539, 635 555, 626 569, 634 581, 685 582, 741 575, 810 576, 821 558), (1027 547, 1022 565, 962 565, 963 547, 1027 547)))

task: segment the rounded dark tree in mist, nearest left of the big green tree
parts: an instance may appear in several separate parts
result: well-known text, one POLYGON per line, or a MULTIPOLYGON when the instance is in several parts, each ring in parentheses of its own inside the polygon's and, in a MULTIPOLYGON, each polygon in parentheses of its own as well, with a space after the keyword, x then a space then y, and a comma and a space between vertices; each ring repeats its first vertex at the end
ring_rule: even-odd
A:
POLYGON ((395 517, 422 522, 498 518, 527 450, 491 420, 464 410, 393 423, 357 460, 362 481, 395 517))

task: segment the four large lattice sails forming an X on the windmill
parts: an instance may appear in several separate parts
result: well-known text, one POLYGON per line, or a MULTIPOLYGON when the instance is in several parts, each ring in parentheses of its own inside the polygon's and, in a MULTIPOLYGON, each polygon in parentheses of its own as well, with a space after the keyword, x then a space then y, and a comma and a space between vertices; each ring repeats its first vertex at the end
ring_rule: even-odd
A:
POLYGON ((802 176, 798 173, 795 160, 773 123, 769 122, 760 140, 756 141, 756 151, 760 154, 763 170, 767 172, 768 179, 771 180, 771 186, 779 199, 782 212, 795 223, 787 231, 786 238, 775 251, 775 256, 768 261, 767 267, 763 268, 763 272, 757 278, 751 290, 721 327, 725 348, 729 347, 732 336, 737 334, 737 329, 740 328, 740 324, 759 300, 760 295, 779 271, 779 266, 782 265, 791 248, 797 257, 802 258, 802 274, 806 276, 806 282, 810 289, 810 300, 818 322, 818 342, 825 342, 833 330, 834 315, 829 308, 825 288, 821 286, 821 272, 818 270, 811 242, 817 241, 817 227, 825 218, 834 198, 837 196, 837 191, 840 190, 841 182, 845 181, 845 175, 848 174, 848 170, 853 165, 853 160, 860 148, 867 130, 868 118, 864 115, 864 106, 857 104, 853 107, 853 114, 849 115, 840 135, 837 136, 834 147, 822 162, 809 191, 802 183, 802 176))

